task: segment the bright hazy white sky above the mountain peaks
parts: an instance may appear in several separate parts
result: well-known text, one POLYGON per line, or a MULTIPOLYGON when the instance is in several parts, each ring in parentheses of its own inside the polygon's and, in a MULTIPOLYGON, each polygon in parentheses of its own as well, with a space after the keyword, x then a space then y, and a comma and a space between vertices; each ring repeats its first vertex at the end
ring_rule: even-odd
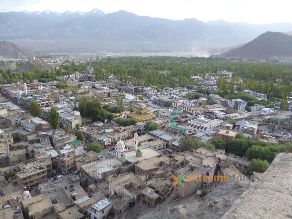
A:
POLYGON ((201 21, 223 19, 253 24, 292 23, 290 0, 0 0, 0 11, 91 11, 125 10, 137 15, 201 21))

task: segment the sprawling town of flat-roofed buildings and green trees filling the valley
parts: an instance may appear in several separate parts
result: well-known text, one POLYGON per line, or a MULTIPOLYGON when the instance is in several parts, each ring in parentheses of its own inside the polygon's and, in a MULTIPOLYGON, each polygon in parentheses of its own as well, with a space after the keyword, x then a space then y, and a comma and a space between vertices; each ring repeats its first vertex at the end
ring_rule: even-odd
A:
MULTIPOLYGON (((43 58, 51 70, 0 71, 2 218, 130 218, 134 206, 203 198, 217 183, 188 176, 256 177, 291 151, 288 64, 137 59, 43 58), (265 65, 283 65, 282 76, 254 70, 265 65)), ((38 59, 14 63, 28 61, 38 59)))

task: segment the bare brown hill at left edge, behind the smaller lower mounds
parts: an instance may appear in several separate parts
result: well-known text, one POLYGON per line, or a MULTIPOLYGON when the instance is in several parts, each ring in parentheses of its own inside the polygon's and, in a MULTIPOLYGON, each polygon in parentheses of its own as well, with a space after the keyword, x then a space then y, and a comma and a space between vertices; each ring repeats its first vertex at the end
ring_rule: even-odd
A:
POLYGON ((43 55, 45 54, 28 47, 21 47, 6 40, 0 41, 0 57, 3 58, 20 59, 43 55))

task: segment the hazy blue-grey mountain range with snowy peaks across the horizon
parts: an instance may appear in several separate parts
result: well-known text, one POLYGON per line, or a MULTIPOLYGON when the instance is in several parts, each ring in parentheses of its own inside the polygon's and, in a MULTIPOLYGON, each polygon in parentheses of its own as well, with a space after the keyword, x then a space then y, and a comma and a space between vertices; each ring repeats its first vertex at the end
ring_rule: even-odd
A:
POLYGON ((208 51, 245 44, 267 31, 292 31, 291 23, 253 25, 194 18, 168 20, 126 11, 0 13, 0 39, 37 50, 126 49, 208 51))

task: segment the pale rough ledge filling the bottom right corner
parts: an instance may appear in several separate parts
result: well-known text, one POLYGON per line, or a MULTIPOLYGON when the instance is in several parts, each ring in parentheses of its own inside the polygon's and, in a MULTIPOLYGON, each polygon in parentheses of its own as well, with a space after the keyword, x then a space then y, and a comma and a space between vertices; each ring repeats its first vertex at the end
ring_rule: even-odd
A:
POLYGON ((292 154, 278 154, 259 179, 222 219, 292 218, 292 154))

